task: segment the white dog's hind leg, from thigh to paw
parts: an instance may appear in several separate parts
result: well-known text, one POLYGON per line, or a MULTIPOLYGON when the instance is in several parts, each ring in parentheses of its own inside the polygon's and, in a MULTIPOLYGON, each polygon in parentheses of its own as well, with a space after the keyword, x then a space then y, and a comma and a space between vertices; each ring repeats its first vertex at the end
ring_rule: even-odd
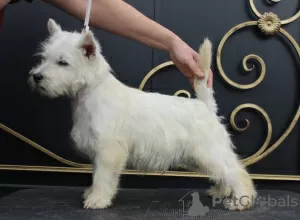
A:
POLYGON ((211 180, 216 183, 217 194, 214 196, 219 198, 231 194, 226 208, 244 210, 253 206, 256 197, 253 182, 231 148, 197 147, 193 152, 193 159, 201 169, 205 168, 211 180))

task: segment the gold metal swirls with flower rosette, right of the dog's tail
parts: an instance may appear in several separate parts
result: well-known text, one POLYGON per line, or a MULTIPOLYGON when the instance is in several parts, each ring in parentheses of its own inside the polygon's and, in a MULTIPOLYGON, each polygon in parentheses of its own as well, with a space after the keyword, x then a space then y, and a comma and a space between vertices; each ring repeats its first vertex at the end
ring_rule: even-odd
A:
MULTIPOLYGON (((273 0, 274 3, 279 2, 279 1, 280 0, 278 0, 278 1, 273 0)), ((227 41, 227 39, 233 33, 238 31, 239 29, 244 28, 244 27, 248 27, 248 26, 258 26, 260 28, 260 30, 262 31, 262 33, 267 34, 267 35, 275 34, 275 33, 281 33, 293 45, 294 49, 298 53, 298 57, 300 57, 300 47, 299 47, 298 43, 296 42, 296 40, 288 32, 286 32, 284 29, 281 28, 282 25, 290 23, 290 22, 296 20, 297 18, 299 18, 300 17, 300 11, 296 15, 294 15, 293 17, 291 17, 289 19, 286 19, 284 21, 280 21, 278 16, 273 14, 273 13, 265 13, 265 14, 261 15, 257 11, 257 9, 255 8, 253 0, 249 0, 249 2, 250 2, 250 6, 251 6, 253 12, 258 16, 259 20, 258 21, 244 22, 244 23, 241 23, 241 24, 233 27, 232 29, 230 29, 225 34, 223 39, 221 40, 220 45, 218 47, 218 51, 217 51, 217 66, 218 66, 218 69, 219 69, 219 72, 220 72, 222 78, 225 80, 226 83, 228 83, 229 85, 231 85, 235 88, 238 88, 238 89, 252 89, 252 88, 256 87, 257 85, 259 85, 262 82, 262 80, 265 77, 265 73, 266 73, 266 65, 265 65, 263 59, 261 57, 257 56, 257 55, 250 54, 250 55, 246 56, 243 59, 243 68, 244 68, 245 71, 248 71, 248 72, 252 71, 255 68, 255 66, 252 66, 251 68, 247 67, 247 61, 249 59, 255 59, 260 63, 261 73, 260 73, 259 78, 255 82, 253 82, 251 84, 247 84, 247 85, 241 85, 241 84, 238 84, 238 83, 232 81, 231 79, 229 79, 228 76, 225 74, 225 72, 222 68, 222 65, 221 65, 222 49, 223 49, 224 44, 227 41)), ((266 137, 265 142, 262 145, 262 147, 255 154, 253 154, 253 155, 251 155, 251 156, 249 156, 249 157, 242 160, 242 162, 246 166, 249 166, 249 165, 251 165, 253 163, 256 163, 257 161, 263 159, 267 155, 269 155, 271 152, 273 152, 285 140, 285 138, 290 134, 290 132, 295 127, 297 121, 299 120, 300 105, 298 107, 298 110, 297 110, 293 120, 291 121, 290 125, 288 126, 288 128, 283 132, 281 137, 279 137, 275 141, 275 143, 271 146, 269 146, 270 140, 271 140, 271 137, 272 137, 271 120, 270 120, 268 114, 261 107, 255 105, 255 104, 250 104, 250 103, 242 104, 242 105, 239 105, 238 107, 236 107, 233 110, 233 112, 231 113, 231 116, 230 116, 230 124, 233 127, 233 129, 238 131, 238 132, 244 132, 249 128, 250 122, 249 122, 248 119, 245 120, 246 121, 246 126, 243 127, 243 128, 238 127, 235 123, 236 114, 239 111, 241 111, 245 108, 254 109, 254 110, 260 112, 263 115, 263 117, 264 117, 264 119, 267 123, 267 137, 266 137)))

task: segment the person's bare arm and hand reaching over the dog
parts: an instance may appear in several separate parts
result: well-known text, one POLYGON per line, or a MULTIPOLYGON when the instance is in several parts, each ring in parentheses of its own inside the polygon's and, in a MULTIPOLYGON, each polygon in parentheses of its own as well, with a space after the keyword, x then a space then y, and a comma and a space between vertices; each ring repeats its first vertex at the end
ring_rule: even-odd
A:
MULTIPOLYGON (((86 1, 44 1, 63 9, 80 20, 84 19, 86 1)), ((185 76, 203 77, 203 73, 196 63, 197 52, 172 31, 144 16, 122 0, 93 0, 90 24, 150 47, 167 51, 174 64, 185 76)), ((212 72, 210 78, 212 78, 212 72)))

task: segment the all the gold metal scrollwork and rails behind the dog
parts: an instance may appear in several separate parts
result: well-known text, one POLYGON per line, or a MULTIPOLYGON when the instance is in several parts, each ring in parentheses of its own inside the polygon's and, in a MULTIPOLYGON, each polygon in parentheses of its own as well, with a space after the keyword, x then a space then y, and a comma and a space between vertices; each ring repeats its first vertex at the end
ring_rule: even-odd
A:
MULTIPOLYGON (((276 2, 280 2, 281 0, 270 0, 270 1, 276 3, 276 2)), ((251 7, 252 11, 259 18, 259 20, 258 21, 244 22, 244 23, 241 23, 241 24, 233 27, 232 29, 230 29, 224 35, 224 37, 222 38, 222 40, 219 44, 218 50, 217 50, 217 58, 216 59, 217 59, 217 67, 218 67, 218 70, 220 72, 220 75, 223 77, 225 82, 227 82, 229 85, 231 85, 235 88, 238 88, 238 89, 251 89, 251 88, 256 87, 257 85, 259 85, 262 82, 262 80, 265 77, 265 73, 266 73, 266 65, 265 65, 263 59, 261 57, 259 57, 258 55, 250 54, 250 55, 244 57, 244 59, 243 59, 243 68, 244 68, 245 71, 250 72, 255 68, 255 66, 253 65, 251 68, 249 68, 247 66, 247 62, 250 59, 254 59, 254 60, 259 62, 260 66, 261 66, 261 73, 260 73, 260 76, 258 77, 258 79, 255 82, 253 82, 251 84, 241 85, 241 84, 238 84, 236 82, 233 82, 225 74, 225 72, 222 68, 222 65, 221 65, 222 49, 223 49, 224 44, 227 41, 227 39, 234 32, 238 31, 239 29, 244 28, 244 27, 248 27, 248 26, 257 25, 261 29, 261 31, 265 34, 281 33, 282 35, 284 35, 290 41, 290 43, 293 45, 293 47, 297 51, 298 56, 300 57, 300 47, 297 44, 296 40, 288 32, 286 32, 284 29, 281 28, 282 25, 291 23, 291 22, 295 21, 297 18, 299 18, 300 17, 300 11, 298 11, 291 18, 280 21, 278 16, 273 14, 273 13, 265 13, 264 15, 260 14, 260 12, 256 9, 256 7, 254 5, 254 1, 249 0, 249 2, 250 2, 250 7, 251 7), (280 21, 280 25, 279 25, 279 21, 280 21)), ((144 88, 145 84, 147 83, 147 81, 155 73, 157 73, 159 70, 161 70, 161 69, 163 69, 167 66, 171 66, 171 65, 174 65, 174 63, 172 61, 168 61, 168 62, 162 63, 162 64, 156 66, 155 68, 153 68, 149 73, 146 74, 146 76, 144 77, 144 79, 142 80, 142 82, 139 86, 139 89, 142 90, 144 88)), ((191 94, 186 90, 179 90, 179 91, 175 92, 174 95, 178 96, 180 94, 185 94, 189 98, 191 97, 191 94)), ((264 111, 258 105, 247 103, 247 104, 242 104, 242 105, 239 105, 238 107, 236 107, 230 115, 231 126, 236 131, 239 131, 239 132, 244 132, 249 128, 250 121, 247 120, 247 119, 245 119, 246 126, 243 127, 243 128, 238 127, 235 123, 236 115, 244 109, 254 109, 254 110, 258 111, 260 114, 262 114, 262 116, 264 117, 264 119, 267 123, 267 137, 266 137, 262 147, 256 153, 254 153, 253 155, 241 160, 241 162, 243 162, 246 166, 249 166, 249 165, 251 165, 253 163, 256 163, 257 161, 265 158, 270 153, 272 153, 285 140, 285 138, 291 133, 291 131, 293 130, 293 128, 295 127, 297 121, 300 118, 300 106, 298 107, 297 113, 295 114, 295 116, 292 119, 292 122, 290 123, 288 128, 284 131, 282 136, 280 138, 278 138, 278 140, 276 140, 275 143, 271 146, 269 146, 269 144, 270 144, 270 139, 271 139, 271 136, 272 136, 272 123, 271 123, 270 117, 268 116, 266 111, 264 111)), ((69 166, 69 167, 53 167, 53 166, 30 166, 30 165, 4 165, 4 164, 0 164, 0 170, 43 171, 43 172, 74 172, 74 173, 91 173, 92 172, 92 166, 90 164, 81 164, 81 163, 76 163, 76 162, 64 159, 64 158, 50 152, 49 150, 45 149, 44 147, 40 146, 39 144, 29 140, 28 138, 24 137, 23 135, 17 133, 16 131, 8 128, 7 126, 5 126, 1 123, 0 123, 0 130, 3 130, 5 132, 15 136, 16 138, 20 139, 21 141, 27 143, 28 145, 36 148, 37 150, 39 150, 39 151, 41 151, 45 154, 47 154, 51 158, 61 162, 62 164, 65 164, 65 165, 69 166)), ((177 177, 205 177, 205 178, 208 177, 207 175, 204 175, 204 174, 200 174, 200 173, 196 173, 196 172, 184 172, 184 171, 180 171, 180 172, 179 171, 143 172, 143 171, 140 171, 140 170, 125 170, 123 172, 123 174, 127 174, 127 175, 148 175, 148 176, 149 175, 150 176, 152 176, 152 175, 157 176, 158 175, 158 176, 177 176, 177 177)), ((264 179, 264 180, 300 181, 300 176, 297 176, 297 175, 251 174, 251 177, 253 179, 264 179)))

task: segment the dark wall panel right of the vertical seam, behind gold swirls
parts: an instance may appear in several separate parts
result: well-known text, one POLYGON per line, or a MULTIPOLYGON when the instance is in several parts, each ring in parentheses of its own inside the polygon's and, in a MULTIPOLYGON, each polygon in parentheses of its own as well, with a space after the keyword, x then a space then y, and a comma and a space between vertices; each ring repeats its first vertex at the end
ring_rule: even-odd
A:
MULTIPOLYGON (((261 13, 272 11, 282 19, 297 13, 300 6, 297 0, 277 5, 267 4, 268 1, 254 2, 261 13)), ((216 53, 227 31, 240 23, 257 20, 250 9, 249 1, 158 0, 156 20, 177 33, 195 50, 198 50, 205 37, 211 39, 214 46, 214 89, 220 114, 223 114, 229 123, 230 114, 237 106, 244 103, 259 105, 270 116, 273 127, 270 145, 275 143, 287 129, 299 105, 300 61, 291 44, 278 35, 266 37, 257 26, 246 27, 234 33, 222 50, 221 61, 227 76, 240 84, 254 82, 259 77, 261 68, 257 62, 250 61, 249 67, 255 64, 258 68, 249 73, 243 70, 242 60, 249 54, 259 55, 267 67, 266 76, 259 86, 250 90, 240 90, 230 87, 221 78, 216 66, 216 53)), ((283 27, 296 40, 300 39, 299 19, 283 27)), ((155 65, 169 59, 167 53, 154 53, 155 65)), ((175 67, 158 72, 152 78, 152 86, 154 91, 165 94, 174 94, 179 89, 193 92, 188 80, 175 67)), ((259 150, 267 136, 266 123, 261 114, 255 110, 241 111, 236 119, 237 122, 243 122, 245 118, 251 122, 249 129, 243 133, 232 131, 237 151, 243 158, 259 150)), ((299 125, 276 151, 251 166, 250 170, 254 173, 270 174, 299 173, 299 150, 296 147, 298 145, 299 125)))

